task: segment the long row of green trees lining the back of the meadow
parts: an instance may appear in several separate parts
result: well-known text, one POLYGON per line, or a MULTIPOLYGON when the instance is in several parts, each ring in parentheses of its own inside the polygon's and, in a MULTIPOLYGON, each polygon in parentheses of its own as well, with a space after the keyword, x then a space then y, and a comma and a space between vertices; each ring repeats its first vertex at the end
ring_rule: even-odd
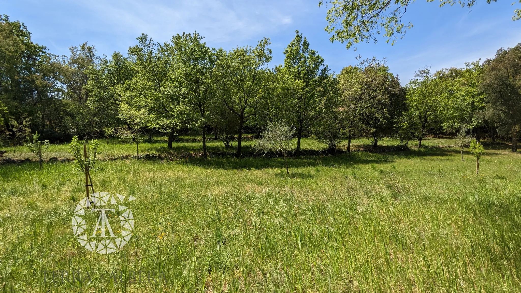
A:
MULTIPOLYGON (((521 44, 465 68, 424 68, 402 87, 376 58, 333 74, 298 31, 284 64, 269 67, 269 39, 230 51, 202 36, 177 34, 156 43, 143 34, 127 56, 98 56, 87 43, 56 56, 31 41, 19 21, 0 18, 0 102, 4 139, 38 131, 52 141, 165 133, 211 135, 241 155, 244 133, 260 135, 268 121, 325 142, 368 137, 375 146, 395 137, 406 146, 427 135, 467 129, 476 140, 512 140, 521 130, 521 44)), ((348 142, 349 151, 349 142, 348 142)))

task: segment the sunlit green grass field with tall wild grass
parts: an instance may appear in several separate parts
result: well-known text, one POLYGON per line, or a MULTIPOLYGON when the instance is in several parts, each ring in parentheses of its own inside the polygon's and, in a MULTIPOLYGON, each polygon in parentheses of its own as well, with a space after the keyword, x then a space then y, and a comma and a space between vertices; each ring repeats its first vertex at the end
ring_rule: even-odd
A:
MULTIPOLYGON (((486 145, 476 175, 468 152, 461 162, 455 148, 434 147, 452 140, 424 144, 291 157, 289 176, 274 157, 102 160, 96 191, 138 199, 132 240, 106 255, 72 233, 84 197, 72 163, 2 165, 3 291, 520 291, 520 154, 486 145)), ((165 146, 158 138, 140 153, 201 152, 196 139, 165 146)), ((224 151, 216 141, 208 148, 224 151)), ((135 144, 109 141, 101 151, 103 159, 134 155, 135 144)), ((70 157, 65 145, 50 156, 70 157)), ((31 156, 22 147, 14 157, 31 156)))

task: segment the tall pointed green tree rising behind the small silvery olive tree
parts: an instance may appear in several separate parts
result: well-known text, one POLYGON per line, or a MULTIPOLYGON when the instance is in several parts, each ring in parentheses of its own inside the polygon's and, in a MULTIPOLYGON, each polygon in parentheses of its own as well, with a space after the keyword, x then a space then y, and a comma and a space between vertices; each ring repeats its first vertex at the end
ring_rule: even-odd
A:
POLYGON ((309 48, 309 42, 295 31, 295 38, 284 49, 284 67, 277 69, 277 74, 284 76, 286 87, 285 106, 289 123, 296 127, 296 155, 300 155, 300 141, 304 132, 313 126, 317 118, 317 108, 324 99, 320 88, 328 79, 328 67, 315 50, 309 48))

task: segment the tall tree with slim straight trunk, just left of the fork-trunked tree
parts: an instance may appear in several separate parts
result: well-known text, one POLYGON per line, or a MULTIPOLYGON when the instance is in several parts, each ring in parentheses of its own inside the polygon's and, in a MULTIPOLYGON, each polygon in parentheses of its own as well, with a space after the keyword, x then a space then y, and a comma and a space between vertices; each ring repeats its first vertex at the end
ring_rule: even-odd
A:
POLYGON ((216 56, 201 42, 203 37, 197 32, 183 33, 172 37, 171 51, 174 62, 174 75, 181 89, 183 102, 192 107, 196 124, 203 136, 203 154, 206 154, 207 116, 214 100, 213 71, 216 56))

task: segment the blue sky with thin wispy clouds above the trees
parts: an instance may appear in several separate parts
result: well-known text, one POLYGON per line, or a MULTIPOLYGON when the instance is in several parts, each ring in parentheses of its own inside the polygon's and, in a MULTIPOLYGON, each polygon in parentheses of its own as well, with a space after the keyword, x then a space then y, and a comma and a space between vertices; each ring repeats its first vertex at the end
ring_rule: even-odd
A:
POLYGON ((358 55, 385 57, 405 84, 420 67, 463 67, 465 62, 493 57, 498 48, 521 42, 521 21, 512 21, 513 10, 521 7, 512 6, 513 1, 486 4, 478 0, 469 11, 417 0, 404 17, 414 25, 404 39, 393 46, 384 39, 378 44, 357 44, 356 51, 329 42, 324 31, 327 8, 318 8, 318 0, 0 0, 0 14, 26 23, 35 42, 60 55, 85 41, 95 45, 99 54, 126 54, 142 32, 164 42, 173 34, 197 30, 209 46, 227 50, 255 45, 266 36, 272 42, 272 63, 277 65, 294 31, 299 30, 332 71, 356 64, 358 55))

